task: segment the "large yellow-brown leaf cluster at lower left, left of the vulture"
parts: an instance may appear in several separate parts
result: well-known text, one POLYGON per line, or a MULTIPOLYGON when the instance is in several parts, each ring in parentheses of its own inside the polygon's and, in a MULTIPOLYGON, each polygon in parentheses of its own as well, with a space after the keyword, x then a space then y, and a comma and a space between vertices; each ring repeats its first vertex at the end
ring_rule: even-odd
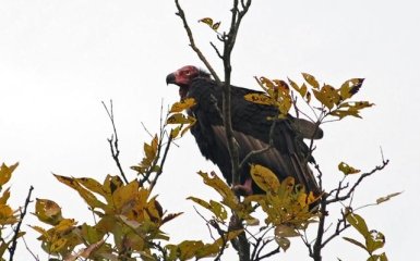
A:
POLYGON ((49 254, 69 260, 154 260, 155 241, 169 239, 160 226, 180 214, 166 214, 156 196, 137 181, 123 184, 119 176, 108 175, 99 183, 88 177, 55 176, 77 191, 97 222, 77 225, 73 219, 62 216, 55 201, 37 199, 35 215, 50 228, 32 227, 40 233, 38 239, 49 254), (75 251, 76 247, 82 249, 75 251))

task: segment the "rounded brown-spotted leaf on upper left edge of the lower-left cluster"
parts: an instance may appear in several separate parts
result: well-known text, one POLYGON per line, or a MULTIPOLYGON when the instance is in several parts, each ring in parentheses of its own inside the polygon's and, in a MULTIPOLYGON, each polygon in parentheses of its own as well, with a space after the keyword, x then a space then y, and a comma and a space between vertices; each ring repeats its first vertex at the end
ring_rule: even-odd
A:
POLYGON ((57 225, 63 219, 60 206, 49 199, 36 199, 35 215, 41 222, 50 225, 57 225))

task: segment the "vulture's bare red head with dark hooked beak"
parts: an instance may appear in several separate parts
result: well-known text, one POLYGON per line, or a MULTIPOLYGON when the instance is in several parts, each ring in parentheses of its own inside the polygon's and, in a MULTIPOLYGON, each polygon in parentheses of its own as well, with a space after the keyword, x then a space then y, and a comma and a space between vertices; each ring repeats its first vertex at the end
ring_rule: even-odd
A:
POLYGON ((209 78, 209 74, 193 65, 183 66, 176 72, 166 76, 166 84, 175 84, 179 86, 179 96, 181 100, 185 98, 190 89, 191 82, 197 77, 209 78))

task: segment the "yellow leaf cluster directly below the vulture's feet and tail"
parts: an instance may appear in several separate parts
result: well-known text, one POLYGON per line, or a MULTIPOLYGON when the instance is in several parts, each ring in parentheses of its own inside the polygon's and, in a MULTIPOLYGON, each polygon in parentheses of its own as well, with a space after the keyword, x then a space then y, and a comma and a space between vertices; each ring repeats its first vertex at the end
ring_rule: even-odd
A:
MULTIPOLYGON (((218 223, 218 226, 226 225, 229 212, 232 216, 237 215, 243 220, 245 225, 259 225, 260 221, 252 214, 261 207, 266 215, 266 226, 274 228, 275 240, 280 248, 287 250, 290 246, 288 237, 299 236, 299 231, 316 222, 317 213, 311 207, 319 198, 315 198, 312 192, 307 194, 304 188, 296 185, 291 177, 280 183, 271 170, 262 165, 252 165, 251 176, 266 194, 247 196, 242 201, 214 173, 208 175, 199 172, 199 175, 207 186, 221 196, 221 200, 206 201, 195 197, 189 197, 189 199, 208 210, 212 213, 212 222, 218 223)), ((263 239, 260 238, 260 240, 263 239)))

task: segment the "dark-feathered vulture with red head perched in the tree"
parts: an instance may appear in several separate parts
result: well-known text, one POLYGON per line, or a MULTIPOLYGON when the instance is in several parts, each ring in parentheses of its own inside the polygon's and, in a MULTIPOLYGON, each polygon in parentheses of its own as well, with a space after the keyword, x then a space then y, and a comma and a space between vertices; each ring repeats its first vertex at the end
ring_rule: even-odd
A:
MULTIPOLYGON (((231 163, 221 117, 223 87, 218 86, 207 72, 191 65, 169 74, 166 82, 179 86, 181 100, 195 99, 196 104, 189 113, 197 122, 191 133, 202 154, 220 169, 230 185, 231 163)), ((239 145, 240 162, 250 151, 268 146, 273 121, 267 119, 278 115, 278 109, 275 107, 247 101, 243 97, 248 94, 261 91, 231 86, 231 123, 235 139, 239 145)), ((311 122, 287 115, 285 120, 276 122, 273 134, 273 148, 252 157, 239 171, 241 185, 238 185, 237 189, 245 195, 263 192, 250 177, 252 163, 271 169, 280 181, 292 176, 307 191, 319 194, 319 186, 308 165, 308 159, 313 162, 313 158, 308 156, 309 148, 303 138, 321 138, 322 130, 311 122)))

